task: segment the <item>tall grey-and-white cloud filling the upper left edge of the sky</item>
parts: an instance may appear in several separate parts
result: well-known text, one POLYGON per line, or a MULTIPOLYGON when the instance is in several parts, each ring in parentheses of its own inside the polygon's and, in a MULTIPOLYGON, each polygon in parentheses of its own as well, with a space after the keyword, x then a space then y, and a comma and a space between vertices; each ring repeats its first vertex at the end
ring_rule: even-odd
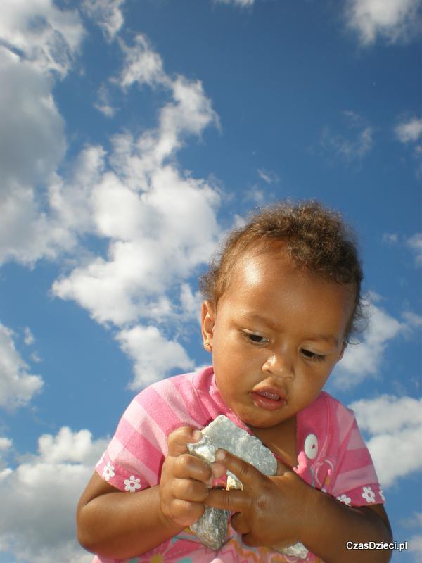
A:
POLYGON ((66 149, 53 99, 84 37, 79 16, 50 0, 5 0, 0 21, 0 262, 33 263, 72 246, 60 218, 46 213, 46 179, 66 149))

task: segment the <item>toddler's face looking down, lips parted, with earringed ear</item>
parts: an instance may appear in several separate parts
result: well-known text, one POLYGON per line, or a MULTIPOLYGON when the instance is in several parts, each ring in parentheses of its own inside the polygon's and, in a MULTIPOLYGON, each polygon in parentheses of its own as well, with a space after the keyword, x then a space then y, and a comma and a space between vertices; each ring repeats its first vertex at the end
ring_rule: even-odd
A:
POLYGON ((245 255, 217 312, 203 303, 203 339, 226 404, 261 428, 307 407, 343 356, 353 305, 350 286, 298 270, 283 251, 245 255))

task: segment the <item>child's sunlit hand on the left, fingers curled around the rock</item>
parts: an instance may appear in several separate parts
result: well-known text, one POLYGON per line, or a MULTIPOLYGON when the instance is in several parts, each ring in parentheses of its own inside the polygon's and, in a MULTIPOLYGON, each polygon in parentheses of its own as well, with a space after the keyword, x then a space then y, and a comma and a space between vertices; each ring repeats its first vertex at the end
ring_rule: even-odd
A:
POLYGON ((186 443, 198 442, 199 430, 182 426, 168 438, 169 453, 162 465, 160 504, 172 524, 190 526, 203 515, 204 501, 215 477, 224 474, 222 464, 207 465, 188 453, 186 443))

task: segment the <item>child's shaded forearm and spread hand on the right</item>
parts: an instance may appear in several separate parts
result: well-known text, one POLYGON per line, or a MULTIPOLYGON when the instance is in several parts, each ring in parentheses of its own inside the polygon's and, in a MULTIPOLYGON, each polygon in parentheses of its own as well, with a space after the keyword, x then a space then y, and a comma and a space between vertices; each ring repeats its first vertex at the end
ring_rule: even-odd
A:
MULTIPOLYGON (((218 459, 218 455, 217 455, 218 459)), ((243 491, 211 491, 206 505, 234 510, 232 526, 248 545, 285 548, 301 541, 326 563, 385 563, 389 550, 347 550, 347 542, 391 541, 381 505, 347 507, 281 468, 267 477, 226 453, 222 460, 243 483, 243 491)))

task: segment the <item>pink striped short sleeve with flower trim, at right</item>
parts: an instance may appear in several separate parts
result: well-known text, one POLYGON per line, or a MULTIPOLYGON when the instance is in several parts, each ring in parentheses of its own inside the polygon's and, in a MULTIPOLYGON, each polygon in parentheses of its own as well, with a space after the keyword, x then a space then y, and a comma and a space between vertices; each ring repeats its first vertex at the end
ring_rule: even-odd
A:
POLYGON ((340 404, 336 414, 340 442, 333 483, 328 492, 349 506, 383 504, 383 491, 354 412, 340 404))

